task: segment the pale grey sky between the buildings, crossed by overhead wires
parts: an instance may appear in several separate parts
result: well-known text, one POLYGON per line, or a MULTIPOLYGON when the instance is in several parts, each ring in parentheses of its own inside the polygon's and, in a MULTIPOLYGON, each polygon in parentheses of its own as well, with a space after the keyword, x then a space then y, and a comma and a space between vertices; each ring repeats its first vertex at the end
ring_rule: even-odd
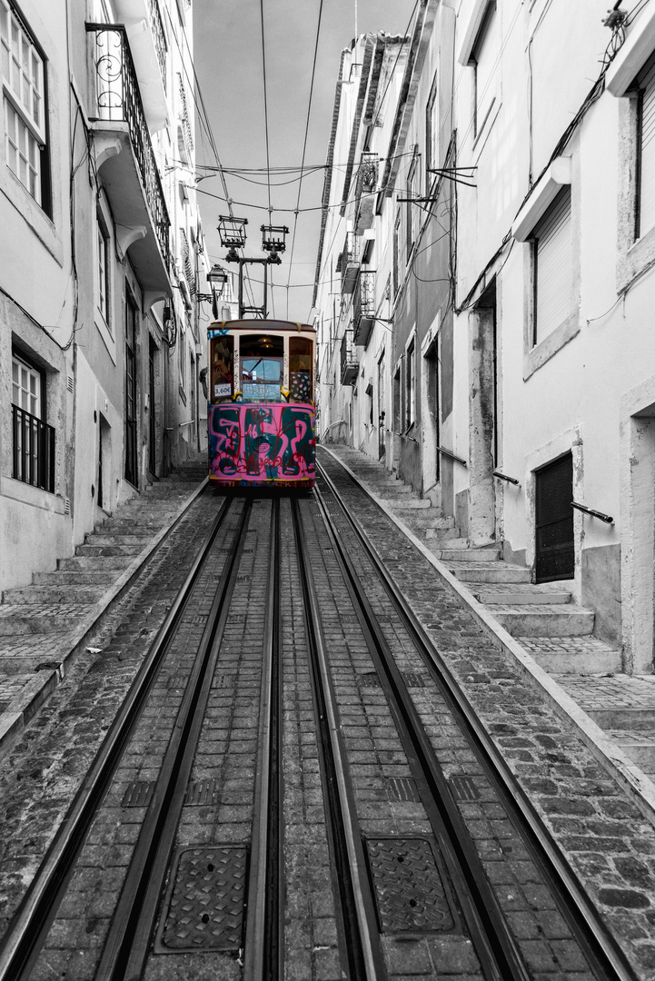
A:
MULTIPOLYGON (((357 34, 408 32, 414 8, 415 0, 323 0, 323 4, 322 0, 196 0, 193 5, 194 63, 200 93, 233 202, 232 213, 248 220, 242 254, 264 256, 263 224, 285 225, 289 230, 281 264, 269 267, 274 280, 269 316, 292 321, 310 317, 324 165, 341 51, 350 46, 356 29, 357 34), (305 173, 299 181, 304 147, 305 173)), ((198 205, 209 260, 236 272, 235 264, 225 263, 227 250, 221 247, 217 232, 218 216, 228 214, 224 184, 220 174, 205 169, 216 167, 216 154, 198 119, 195 142, 198 205)), ((254 291, 253 299, 246 302, 260 305, 263 267, 245 268, 254 291)))

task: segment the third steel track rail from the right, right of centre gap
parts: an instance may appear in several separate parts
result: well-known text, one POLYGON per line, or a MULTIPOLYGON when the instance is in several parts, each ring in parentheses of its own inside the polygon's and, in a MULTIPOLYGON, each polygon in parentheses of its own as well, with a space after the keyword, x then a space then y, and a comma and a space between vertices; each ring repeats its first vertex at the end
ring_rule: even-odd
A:
POLYGON ((321 608, 309 563, 300 505, 296 498, 291 499, 291 512, 305 607, 310 677, 327 805, 328 838, 345 934, 342 965, 347 966, 346 976, 349 981, 382 981, 386 978, 386 971, 379 949, 375 907, 366 873, 366 857, 355 803, 347 776, 345 749, 321 626, 321 608))

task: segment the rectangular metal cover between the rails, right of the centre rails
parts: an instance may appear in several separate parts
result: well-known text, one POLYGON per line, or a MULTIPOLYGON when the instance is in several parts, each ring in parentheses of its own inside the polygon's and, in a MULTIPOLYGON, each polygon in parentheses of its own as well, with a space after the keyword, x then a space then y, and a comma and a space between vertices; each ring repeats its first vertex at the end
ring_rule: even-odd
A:
POLYGON ((460 933, 434 852, 425 838, 366 842, 382 933, 460 933))

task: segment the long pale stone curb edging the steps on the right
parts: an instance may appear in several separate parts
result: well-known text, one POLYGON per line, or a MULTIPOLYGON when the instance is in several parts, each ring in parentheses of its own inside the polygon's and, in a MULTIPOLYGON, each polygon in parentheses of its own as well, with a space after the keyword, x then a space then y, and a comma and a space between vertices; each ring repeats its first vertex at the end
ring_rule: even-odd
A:
POLYGON ((362 490, 365 490, 376 501, 394 525, 428 559, 430 565, 433 566, 451 592, 457 594, 464 605, 473 613, 484 633, 519 662, 523 674, 527 675, 539 686, 546 697, 548 697, 557 714, 565 721, 573 723, 584 744, 593 752, 605 769, 628 791, 630 798, 637 804, 646 820, 655 825, 655 784, 648 779, 645 773, 642 773, 634 765, 623 749, 614 743, 613 740, 609 739, 603 730, 589 718, 586 712, 580 708, 578 702, 568 695, 547 671, 544 671, 537 664, 525 647, 519 644, 516 638, 512 637, 498 623, 495 617, 476 599, 474 594, 465 585, 460 583, 443 562, 428 550, 426 545, 414 535, 407 525, 388 510, 385 501, 378 497, 375 490, 371 490, 336 453, 332 452, 325 445, 322 448, 347 471, 362 490))

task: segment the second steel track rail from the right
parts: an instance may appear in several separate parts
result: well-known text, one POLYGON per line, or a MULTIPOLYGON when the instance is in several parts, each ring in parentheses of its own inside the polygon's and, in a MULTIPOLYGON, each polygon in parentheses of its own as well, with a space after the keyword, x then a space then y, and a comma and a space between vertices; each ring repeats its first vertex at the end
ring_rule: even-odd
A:
POLYGON ((478 851, 450 793, 443 771, 434 757, 414 702, 403 683, 352 560, 335 532, 321 490, 316 487, 315 495, 369 651, 378 669, 383 690, 388 697, 408 762, 422 788, 422 800, 428 820, 464 911, 482 973, 487 981, 529 981, 528 967, 489 885, 478 851))

